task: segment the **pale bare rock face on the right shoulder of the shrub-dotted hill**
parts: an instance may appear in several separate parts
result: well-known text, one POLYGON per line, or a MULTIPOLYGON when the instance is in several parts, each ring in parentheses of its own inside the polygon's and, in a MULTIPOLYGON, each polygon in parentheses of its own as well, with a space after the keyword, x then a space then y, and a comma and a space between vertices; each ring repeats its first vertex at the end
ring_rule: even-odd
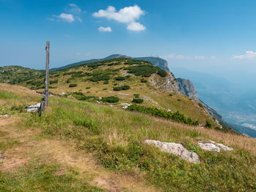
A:
POLYGON ((151 82, 155 88, 164 89, 171 93, 179 93, 178 82, 171 72, 167 72, 166 77, 159 77, 158 74, 152 74, 149 78, 149 82, 151 82))

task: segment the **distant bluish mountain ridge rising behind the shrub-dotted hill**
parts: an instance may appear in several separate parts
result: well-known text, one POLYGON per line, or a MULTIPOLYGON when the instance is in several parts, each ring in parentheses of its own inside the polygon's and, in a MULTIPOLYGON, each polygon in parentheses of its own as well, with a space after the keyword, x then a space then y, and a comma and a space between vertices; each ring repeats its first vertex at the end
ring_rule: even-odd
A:
MULTIPOLYGON (((61 66, 61 67, 53 68, 53 69, 50 69, 50 70, 51 71, 56 71, 56 70, 60 70, 60 69, 67 69, 71 66, 78 66, 78 65, 81 65, 81 64, 89 64, 89 63, 93 63, 93 62, 97 62, 97 61, 105 61, 105 60, 113 59, 113 58, 132 58, 132 57, 129 57, 127 55, 113 54, 113 55, 109 55, 106 58, 97 58, 97 59, 90 59, 90 60, 86 60, 86 61, 79 61, 79 62, 76 62, 74 64, 69 64, 69 65, 66 65, 66 66, 61 66)), ((133 58, 133 59, 149 61, 149 62, 151 62, 151 64, 154 64, 154 66, 159 66, 159 68, 164 69, 165 71, 169 71, 168 66, 167 66, 167 61, 165 61, 162 58, 139 57, 139 58, 133 58)))

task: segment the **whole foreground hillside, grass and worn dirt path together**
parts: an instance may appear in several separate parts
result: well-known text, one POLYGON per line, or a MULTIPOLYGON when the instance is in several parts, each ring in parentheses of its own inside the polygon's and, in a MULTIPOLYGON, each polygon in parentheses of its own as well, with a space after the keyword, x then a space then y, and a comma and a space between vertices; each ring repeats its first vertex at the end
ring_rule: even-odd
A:
POLYGON ((40 98, 0 84, 0 115, 12 115, 0 118, 1 191, 256 190, 255 139, 65 96, 50 96, 41 118, 24 111, 40 98), (200 164, 145 139, 181 143, 200 164), (202 150, 205 140, 234 150, 202 150))

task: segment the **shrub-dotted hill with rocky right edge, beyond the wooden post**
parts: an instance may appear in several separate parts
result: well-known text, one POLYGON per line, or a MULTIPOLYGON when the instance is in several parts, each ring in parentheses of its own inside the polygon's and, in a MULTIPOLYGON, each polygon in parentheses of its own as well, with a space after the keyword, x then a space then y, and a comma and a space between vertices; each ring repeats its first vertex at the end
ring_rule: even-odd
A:
MULTIPOLYGON (((12 77, 21 79, 16 82, 31 90, 43 91, 45 78, 43 72, 26 72, 15 66, 0 69, 4 74, 0 82, 9 82, 12 77), (9 77, 10 72, 12 76, 9 77), (34 75, 37 74, 37 77, 34 75), (22 76, 23 75, 23 76, 22 76), (23 79, 22 79, 23 77, 23 79), (8 81, 7 81, 8 80, 8 81)), ((142 101, 145 107, 156 107, 170 112, 181 112, 186 118, 198 120, 200 126, 211 122, 212 128, 222 129, 208 112, 187 96, 181 95, 178 82, 171 72, 165 72, 148 61, 130 58, 112 58, 68 69, 50 72, 50 92, 56 95, 72 96, 91 102, 104 103, 110 107, 123 109, 129 104, 142 101), (118 101, 108 103, 102 100, 114 96, 118 101)), ((224 129, 223 130, 227 130, 224 129)))

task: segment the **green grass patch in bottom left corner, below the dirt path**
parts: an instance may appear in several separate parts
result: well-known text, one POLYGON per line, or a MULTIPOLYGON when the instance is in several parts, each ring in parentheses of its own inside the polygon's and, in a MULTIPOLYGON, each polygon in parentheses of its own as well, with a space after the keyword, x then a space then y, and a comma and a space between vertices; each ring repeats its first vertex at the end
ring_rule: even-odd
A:
POLYGON ((58 174, 59 169, 59 164, 42 164, 34 161, 16 172, 1 172, 0 191, 104 191, 89 185, 75 170, 66 168, 63 170, 64 173, 58 174))

